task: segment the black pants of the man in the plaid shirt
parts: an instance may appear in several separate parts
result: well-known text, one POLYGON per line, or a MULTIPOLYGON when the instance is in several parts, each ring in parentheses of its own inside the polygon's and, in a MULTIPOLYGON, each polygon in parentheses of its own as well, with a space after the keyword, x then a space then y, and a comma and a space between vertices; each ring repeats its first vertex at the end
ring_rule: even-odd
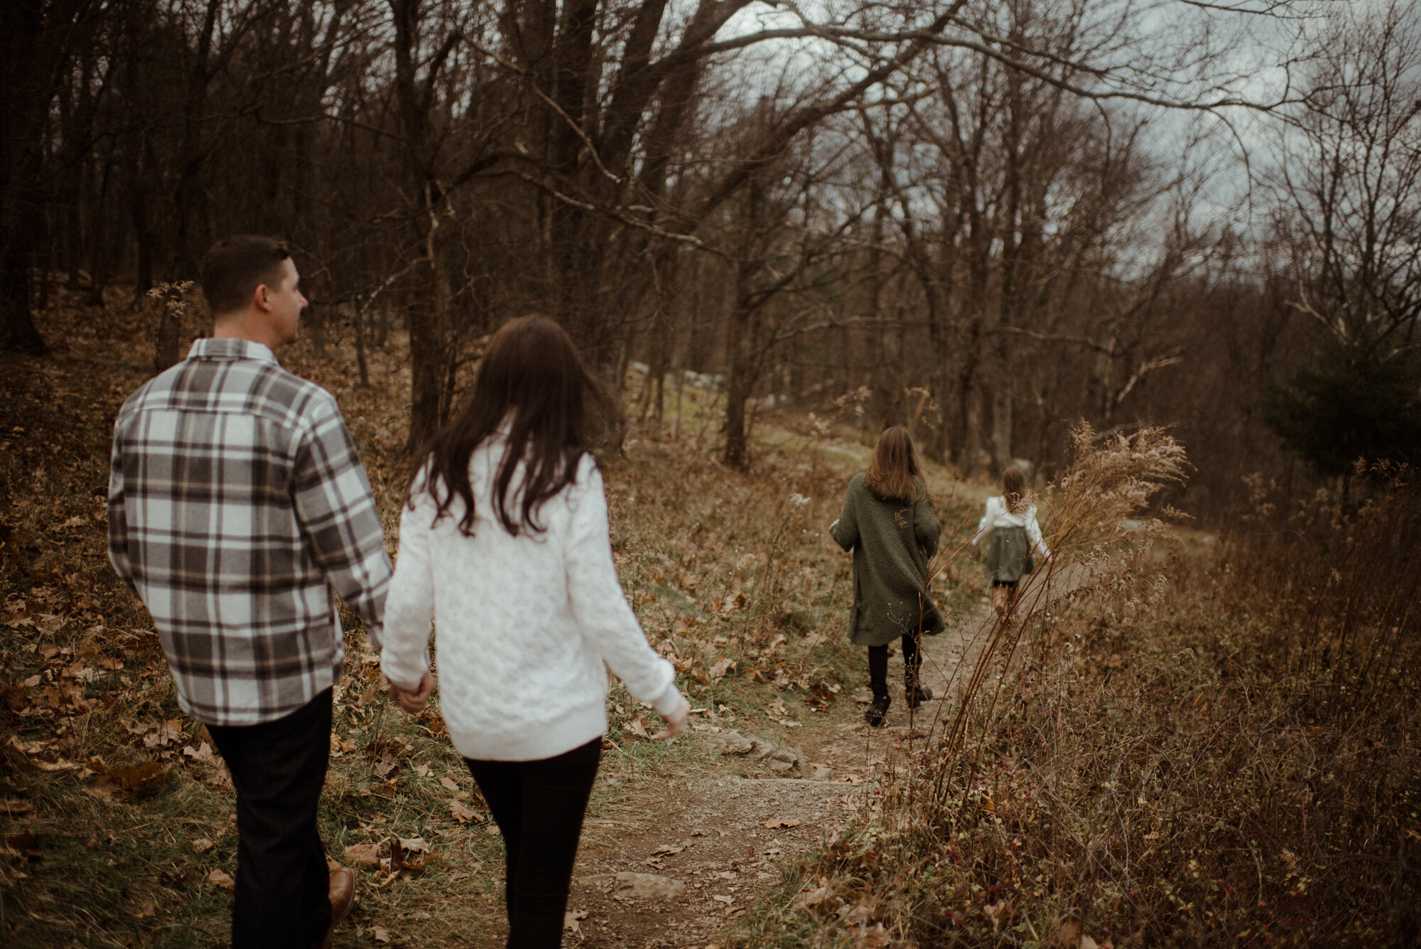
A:
POLYGON ((237 788, 232 949, 315 949, 331 926, 331 875, 315 828, 331 690, 274 722, 207 732, 237 788))

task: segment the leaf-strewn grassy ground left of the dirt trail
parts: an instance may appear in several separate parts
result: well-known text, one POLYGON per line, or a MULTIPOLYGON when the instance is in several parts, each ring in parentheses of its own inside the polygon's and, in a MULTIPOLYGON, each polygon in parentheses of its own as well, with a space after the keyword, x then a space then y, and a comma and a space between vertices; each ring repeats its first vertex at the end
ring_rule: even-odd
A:
MULTIPOLYGON (((117 295, 117 294, 115 294, 117 295)), ((124 300, 111 301, 122 308, 124 300)), ((236 871, 233 791, 200 723, 182 715, 146 611, 107 557, 112 419, 151 375, 156 314, 128 331, 60 305, 65 344, 0 365, 0 933, 14 946, 217 945, 236 871)), ((200 330, 185 315, 183 347, 200 330)), ((341 403, 396 546, 408 459, 408 365, 392 334, 361 384, 352 347, 310 341, 283 365, 341 403)), ((635 422, 603 457, 618 570, 654 646, 675 659, 702 730, 853 720, 860 651, 838 635, 848 563, 824 534, 861 446, 763 426, 755 470, 716 460, 715 395, 688 391, 665 423, 635 422)), ((799 422, 803 422, 800 419, 799 422)), ((799 423, 796 422, 796 423, 799 423)), ((963 524, 973 516, 945 510, 963 524)), ((362 869, 340 945, 493 945, 500 841, 433 706, 388 709, 378 658, 345 614, 321 833, 362 869), (456 898, 452 898, 455 895, 456 898)), ((438 656, 436 656, 438 671, 438 656)), ((583 847, 654 824, 709 769, 688 736, 651 742, 655 713, 617 685, 583 847)), ((826 725, 827 727, 827 725, 826 725)), ((756 766, 767 771, 767 766, 756 766)))

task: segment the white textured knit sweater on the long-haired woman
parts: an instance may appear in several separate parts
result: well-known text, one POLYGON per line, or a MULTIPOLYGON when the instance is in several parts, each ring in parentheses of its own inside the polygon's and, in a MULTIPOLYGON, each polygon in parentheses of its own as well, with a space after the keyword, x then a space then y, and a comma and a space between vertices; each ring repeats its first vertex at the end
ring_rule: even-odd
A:
MULTIPOLYGON (((531 761, 607 732, 607 671, 662 715, 681 703, 675 666, 647 642, 612 565, 603 476, 590 455, 549 499, 543 533, 509 534, 493 514, 493 480, 506 442, 469 459, 473 537, 459 531, 456 497, 435 523, 435 501, 414 492, 399 519, 399 555, 385 601, 381 666, 416 689, 431 622, 439 656, 439 707, 459 754, 531 761)), ((509 509, 517 510, 517 484, 509 509)))

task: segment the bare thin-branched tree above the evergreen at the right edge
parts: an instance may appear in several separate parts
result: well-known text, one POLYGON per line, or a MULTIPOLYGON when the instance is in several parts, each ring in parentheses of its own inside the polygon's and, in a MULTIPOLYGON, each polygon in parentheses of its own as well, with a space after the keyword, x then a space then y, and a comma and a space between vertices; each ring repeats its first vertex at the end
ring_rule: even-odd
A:
POLYGON ((1344 6, 1310 47, 1268 178, 1296 305, 1337 340, 1404 348, 1421 317, 1421 6, 1344 6))

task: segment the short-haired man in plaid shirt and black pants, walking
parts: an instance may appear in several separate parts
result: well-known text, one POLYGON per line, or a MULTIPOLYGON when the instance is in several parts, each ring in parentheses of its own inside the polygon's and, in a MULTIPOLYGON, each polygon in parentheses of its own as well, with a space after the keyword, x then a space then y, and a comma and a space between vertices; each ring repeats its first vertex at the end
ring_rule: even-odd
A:
POLYGON ((391 574, 335 399, 271 354, 296 335, 298 280, 280 242, 215 244, 202 264, 213 338, 134 392, 114 426, 109 558, 237 791, 234 949, 328 945, 354 901, 354 872, 327 871, 315 824, 344 658, 335 594, 378 651, 391 574))

